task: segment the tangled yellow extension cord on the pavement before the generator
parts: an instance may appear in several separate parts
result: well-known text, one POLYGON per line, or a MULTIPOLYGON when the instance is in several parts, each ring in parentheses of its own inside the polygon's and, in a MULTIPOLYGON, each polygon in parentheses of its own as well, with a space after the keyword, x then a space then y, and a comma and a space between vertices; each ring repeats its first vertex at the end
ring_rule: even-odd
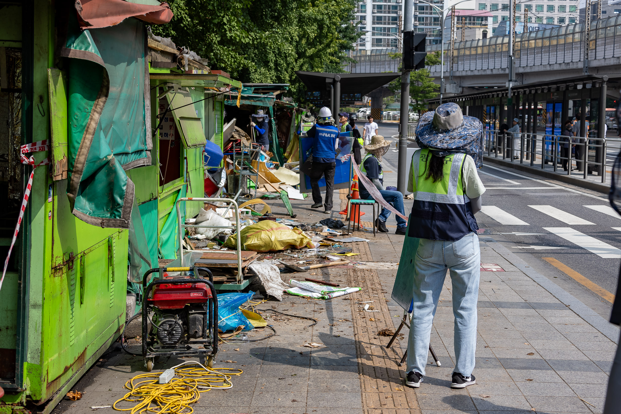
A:
POLYGON ((148 372, 140 374, 125 382, 125 388, 130 390, 125 397, 119 398, 112 407, 117 411, 129 411, 134 413, 152 412, 156 414, 191 414, 194 409, 190 407, 201 398, 201 392, 212 389, 230 389, 233 384, 231 376, 242 374, 241 369, 235 368, 208 368, 196 361, 186 361, 174 366, 175 377, 168 384, 158 384, 161 372, 148 372), (196 365, 194 367, 179 368, 184 365, 196 365), (218 372, 220 370, 238 371, 218 372), (141 378, 153 378, 142 380, 141 378), (215 385, 212 383, 222 383, 215 385), (117 404, 122 401, 137 403, 132 408, 118 408, 117 404))

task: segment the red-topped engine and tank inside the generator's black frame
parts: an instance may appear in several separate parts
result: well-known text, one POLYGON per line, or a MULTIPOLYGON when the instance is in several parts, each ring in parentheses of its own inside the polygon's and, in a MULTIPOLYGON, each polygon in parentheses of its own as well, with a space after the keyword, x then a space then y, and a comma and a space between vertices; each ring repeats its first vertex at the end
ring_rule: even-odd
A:
MULTIPOLYGON (((189 276, 166 276, 164 279, 191 279, 189 276)), ((153 310, 153 334, 158 344, 175 347, 191 339, 207 337, 207 300, 211 289, 204 283, 158 284, 149 305, 153 310)))

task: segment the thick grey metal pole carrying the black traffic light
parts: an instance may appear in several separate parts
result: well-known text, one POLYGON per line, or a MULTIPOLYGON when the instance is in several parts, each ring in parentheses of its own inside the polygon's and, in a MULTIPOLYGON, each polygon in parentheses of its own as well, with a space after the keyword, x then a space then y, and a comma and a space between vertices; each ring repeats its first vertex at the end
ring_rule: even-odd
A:
MULTIPOLYGON (((404 2, 403 30, 412 31, 412 16, 414 16, 412 0, 404 2)), ((405 65, 404 65, 405 66, 405 65)), ((401 75, 401 121, 399 125, 399 165, 397 167, 397 191, 406 194, 407 183, 407 130, 410 119, 410 71, 403 71, 401 75)))

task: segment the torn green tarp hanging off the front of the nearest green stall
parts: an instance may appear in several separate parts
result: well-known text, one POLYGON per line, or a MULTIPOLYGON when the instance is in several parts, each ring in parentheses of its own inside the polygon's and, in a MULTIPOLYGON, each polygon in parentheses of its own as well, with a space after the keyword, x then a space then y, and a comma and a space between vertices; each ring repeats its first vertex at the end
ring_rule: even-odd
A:
POLYGON ((134 183, 124 170, 151 164, 145 48, 140 20, 81 31, 71 14, 61 49, 70 58, 67 194, 72 213, 100 227, 129 228, 134 183))

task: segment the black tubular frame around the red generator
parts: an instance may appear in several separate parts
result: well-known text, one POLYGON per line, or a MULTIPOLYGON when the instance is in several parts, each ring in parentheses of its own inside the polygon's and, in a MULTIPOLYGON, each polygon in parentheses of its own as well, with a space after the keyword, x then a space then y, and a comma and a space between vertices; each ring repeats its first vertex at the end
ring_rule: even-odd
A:
MULTIPOLYGON (((145 272, 144 276, 142 277, 142 332, 143 332, 142 354, 144 356, 148 354, 148 349, 147 349, 148 334, 144 335, 144 333, 147 333, 147 327, 148 327, 147 304, 148 304, 148 297, 149 297, 149 294, 151 293, 152 287, 159 285, 159 284, 204 283, 207 286, 209 286, 209 289, 211 289, 211 293, 212 293, 212 299, 207 299, 207 304, 208 304, 207 313, 209 314, 208 316, 209 317, 209 339, 211 340, 211 354, 209 356, 211 356, 212 358, 215 357, 215 354, 218 353, 217 322, 219 322, 219 318, 218 318, 218 295, 215 294, 215 287, 214 287, 213 280, 214 279, 213 279, 211 271, 207 268, 201 268, 199 266, 194 266, 193 268, 153 268, 145 272), (194 271, 194 276, 197 276, 199 270, 206 271, 207 274, 209 275, 209 280, 202 279, 202 277, 201 278, 189 277, 188 279, 163 279, 162 277, 163 272, 165 271, 189 272, 191 270, 194 271), (158 272, 160 274, 160 279, 152 281, 147 285, 147 276, 155 272, 158 272), (212 309, 209 309, 210 302, 212 305, 212 309)), ((203 326, 204 326, 204 323, 203 323, 203 326)), ((205 337, 205 333, 206 333, 205 330, 203 330, 202 332, 203 339, 207 339, 205 337)))

